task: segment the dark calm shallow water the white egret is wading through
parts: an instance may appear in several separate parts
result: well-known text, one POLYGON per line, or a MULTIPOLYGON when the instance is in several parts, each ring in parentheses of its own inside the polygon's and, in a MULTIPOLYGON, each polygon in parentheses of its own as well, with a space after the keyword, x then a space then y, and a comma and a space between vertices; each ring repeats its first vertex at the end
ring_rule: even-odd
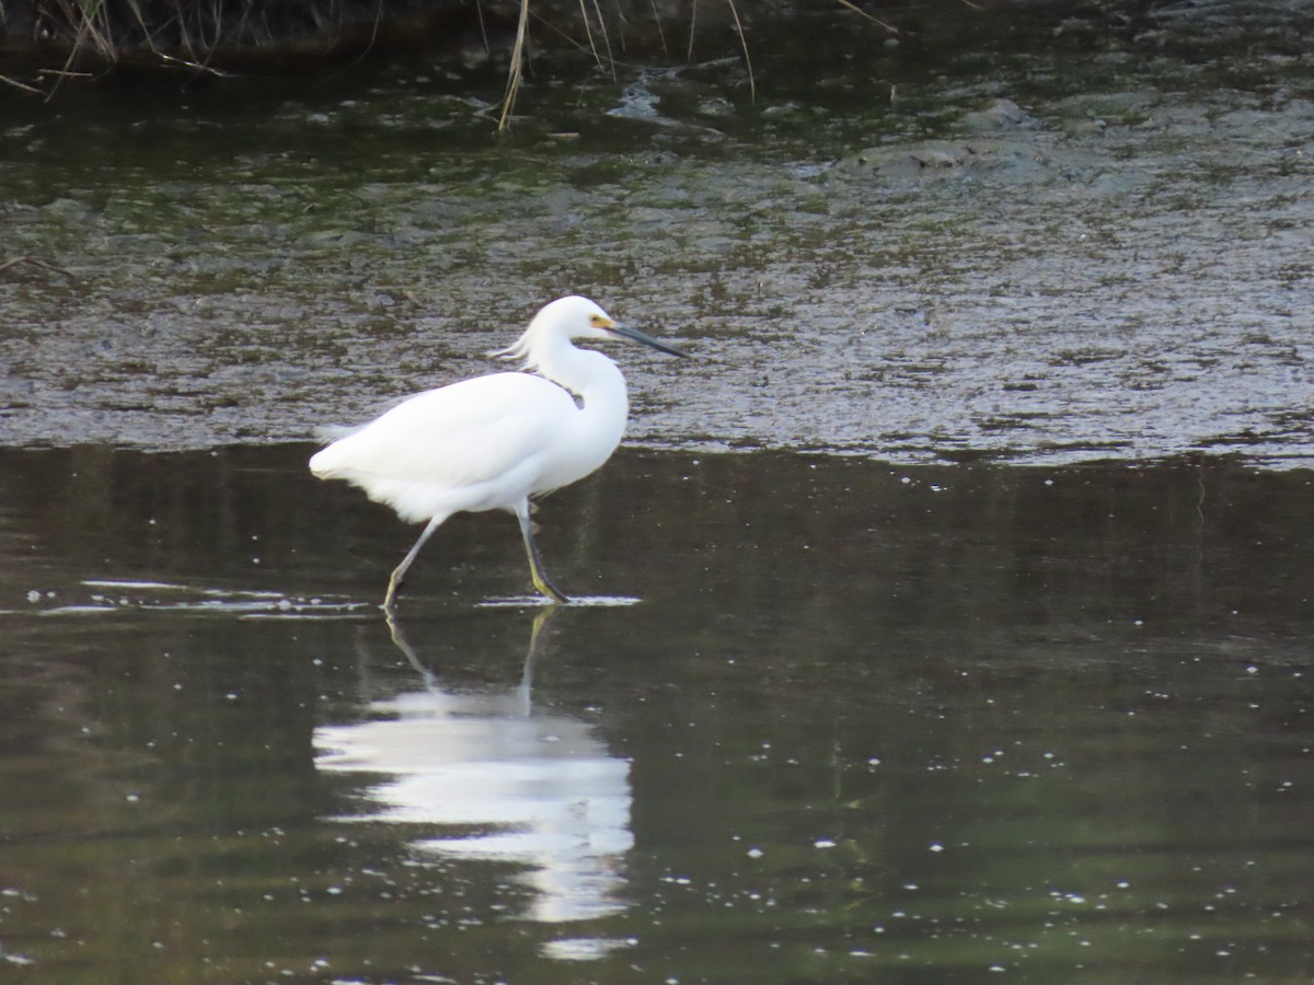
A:
POLYGON ((16 981, 1307 977, 1309 473, 309 450, 0 453, 16 981))

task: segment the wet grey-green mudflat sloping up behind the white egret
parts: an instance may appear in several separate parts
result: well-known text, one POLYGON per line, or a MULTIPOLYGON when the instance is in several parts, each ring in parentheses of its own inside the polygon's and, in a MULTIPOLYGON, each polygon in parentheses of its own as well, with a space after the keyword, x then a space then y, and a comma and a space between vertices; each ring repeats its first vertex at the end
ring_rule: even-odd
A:
POLYGON ((414 66, 11 121, 5 250, 74 278, 0 274, 0 441, 304 440, 582 292, 702 357, 622 353, 643 444, 1301 465, 1290 30, 878 47, 838 84, 782 55, 757 102, 733 59, 632 71, 540 85, 507 141, 414 66))

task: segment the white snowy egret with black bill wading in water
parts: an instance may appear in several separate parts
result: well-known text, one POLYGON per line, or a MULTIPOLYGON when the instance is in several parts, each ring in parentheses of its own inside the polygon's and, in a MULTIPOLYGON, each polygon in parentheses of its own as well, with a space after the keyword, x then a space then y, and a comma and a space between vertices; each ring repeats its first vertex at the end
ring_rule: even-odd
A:
POLYGON ((434 531, 452 514, 484 510, 515 514, 535 587, 569 602, 543 571, 530 499, 589 475, 620 444, 629 415, 625 378, 600 352, 572 344, 618 338, 687 359, 618 324, 587 298, 558 298, 510 347, 489 353, 524 360, 530 372, 493 373, 415 394, 310 458, 317 477, 346 479, 410 523, 427 520, 388 579, 385 609, 397 603, 406 570, 434 531))

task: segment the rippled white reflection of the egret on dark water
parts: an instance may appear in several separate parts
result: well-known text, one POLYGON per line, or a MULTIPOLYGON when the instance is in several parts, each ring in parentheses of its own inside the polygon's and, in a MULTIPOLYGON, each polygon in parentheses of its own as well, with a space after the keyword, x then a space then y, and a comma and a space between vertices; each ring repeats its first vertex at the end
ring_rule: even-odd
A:
POLYGON ((377 812, 336 820, 459 826, 413 844, 527 865, 535 898, 523 915, 553 923, 623 910, 622 862, 633 844, 628 760, 586 722, 533 711, 533 666, 555 612, 533 620, 519 684, 487 693, 443 690, 390 619, 422 686, 372 701, 367 721, 314 732, 317 768, 377 777, 365 791, 377 812))

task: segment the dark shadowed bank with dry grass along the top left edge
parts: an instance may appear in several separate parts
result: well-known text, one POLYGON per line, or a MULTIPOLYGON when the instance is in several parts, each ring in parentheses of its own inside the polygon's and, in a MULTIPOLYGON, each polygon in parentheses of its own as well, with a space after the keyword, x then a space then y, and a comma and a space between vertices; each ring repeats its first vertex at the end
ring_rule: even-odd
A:
MULTIPOLYGON (((736 22, 728 5, 690 0, 176 0, 66 4, 17 0, 0 8, 0 83, 11 96, 130 80, 164 89, 243 76, 342 71, 394 58, 461 74, 507 71, 524 14, 522 50, 540 62, 599 67, 618 56, 666 53, 666 32, 715 38, 736 22)), ((788 5, 767 12, 795 13, 788 5)), ((745 13, 749 17, 748 12, 745 13)), ((752 22, 752 17, 749 17, 752 22)), ((478 85, 472 80, 472 87, 478 85)))

